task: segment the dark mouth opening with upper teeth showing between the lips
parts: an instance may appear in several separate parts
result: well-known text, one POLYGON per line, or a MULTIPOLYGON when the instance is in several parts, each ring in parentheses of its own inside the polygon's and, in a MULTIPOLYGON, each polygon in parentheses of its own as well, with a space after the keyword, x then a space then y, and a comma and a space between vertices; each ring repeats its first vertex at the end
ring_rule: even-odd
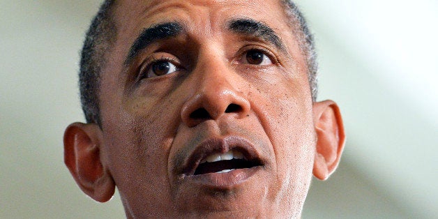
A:
POLYGON ((229 150, 226 153, 213 153, 203 158, 195 169, 195 176, 200 174, 222 174, 235 169, 246 169, 260 165, 257 160, 248 160, 240 151, 229 150))

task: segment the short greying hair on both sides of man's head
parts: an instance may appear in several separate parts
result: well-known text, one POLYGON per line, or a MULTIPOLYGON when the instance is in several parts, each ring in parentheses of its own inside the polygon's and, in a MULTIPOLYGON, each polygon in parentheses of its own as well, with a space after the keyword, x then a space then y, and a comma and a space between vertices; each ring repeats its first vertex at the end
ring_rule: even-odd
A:
MULTIPOLYGON (((308 80, 312 100, 317 98, 317 55, 312 33, 308 28, 305 17, 292 0, 280 0, 290 20, 292 31, 296 32, 301 51, 308 65, 308 80)), ((105 0, 97 15, 93 18, 86 32, 80 60, 80 96, 82 110, 87 123, 96 123, 102 127, 99 107, 100 73, 106 64, 105 52, 110 50, 116 40, 116 25, 112 16, 114 0, 105 0)))

